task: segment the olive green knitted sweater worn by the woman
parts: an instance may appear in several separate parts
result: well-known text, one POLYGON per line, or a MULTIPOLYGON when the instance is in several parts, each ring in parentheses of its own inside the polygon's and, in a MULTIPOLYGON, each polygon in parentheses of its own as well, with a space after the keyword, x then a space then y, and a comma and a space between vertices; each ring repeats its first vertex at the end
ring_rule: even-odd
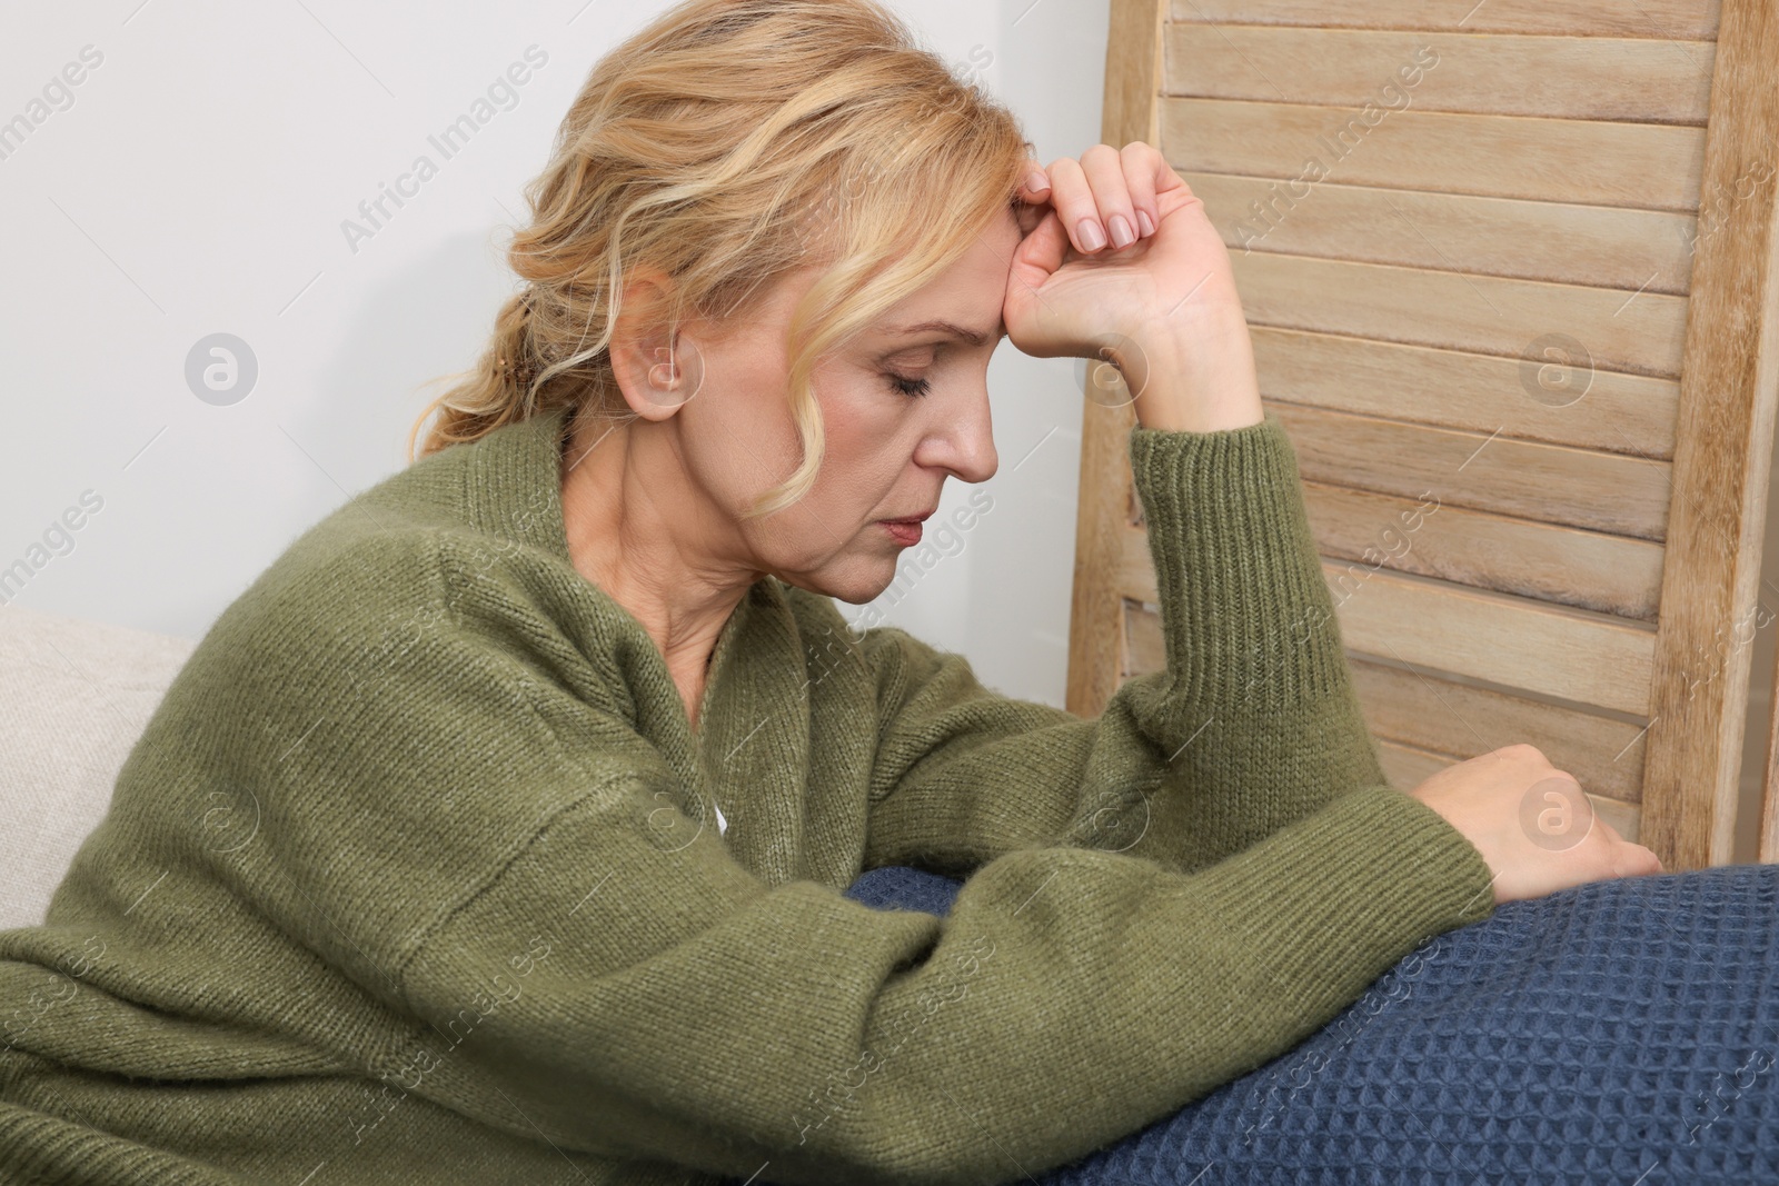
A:
POLYGON ((562 429, 382 480, 206 633, 0 932, 0 1181, 1021 1181, 1491 914, 1272 414, 1131 430, 1167 670, 1099 718, 769 576, 696 731, 569 562, 562 429), (970 877, 841 894, 884 864, 970 877))

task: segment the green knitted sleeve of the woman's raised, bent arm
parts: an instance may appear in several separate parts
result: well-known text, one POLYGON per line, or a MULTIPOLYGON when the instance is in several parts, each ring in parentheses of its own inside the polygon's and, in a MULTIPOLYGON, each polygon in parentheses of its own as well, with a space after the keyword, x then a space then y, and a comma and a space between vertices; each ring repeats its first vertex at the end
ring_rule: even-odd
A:
POLYGON ((1277 418, 1139 425, 1130 459, 1167 669, 1082 720, 984 688, 961 654, 870 631, 884 725, 866 866, 964 873, 1076 845, 1192 871, 1388 784, 1277 418))

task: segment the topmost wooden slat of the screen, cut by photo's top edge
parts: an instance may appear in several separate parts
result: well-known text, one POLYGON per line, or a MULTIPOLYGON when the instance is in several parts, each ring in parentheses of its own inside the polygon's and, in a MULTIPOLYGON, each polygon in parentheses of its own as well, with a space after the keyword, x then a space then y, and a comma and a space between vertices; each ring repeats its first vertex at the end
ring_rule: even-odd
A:
POLYGON ((1172 0, 1171 20, 1711 41, 1719 0, 1172 0))

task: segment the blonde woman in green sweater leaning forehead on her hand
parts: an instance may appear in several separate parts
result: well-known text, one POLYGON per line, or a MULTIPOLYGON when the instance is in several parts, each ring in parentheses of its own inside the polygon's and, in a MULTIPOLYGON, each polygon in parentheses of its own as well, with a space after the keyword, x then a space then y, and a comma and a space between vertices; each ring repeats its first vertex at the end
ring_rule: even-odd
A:
POLYGON ((870 0, 690 0, 532 206, 422 457, 219 617, 0 935, 5 1181, 1012 1181, 1660 869, 1526 834, 1530 747, 1388 786, 1147 144, 1035 169, 870 0), (833 605, 994 473, 1003 333, 1139 393, 1167 670, 1098 720, 833 605), (893 866, 968 880, 843 893, 893 866))

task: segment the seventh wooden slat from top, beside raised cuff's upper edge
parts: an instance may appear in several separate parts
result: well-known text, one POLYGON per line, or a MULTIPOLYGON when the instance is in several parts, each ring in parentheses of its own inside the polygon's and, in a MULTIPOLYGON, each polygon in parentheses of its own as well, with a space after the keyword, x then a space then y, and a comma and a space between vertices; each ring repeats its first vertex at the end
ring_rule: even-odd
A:
POLYGON ((1662 541, 1669 464, 1267 402, 1306 482, 1662 541))

